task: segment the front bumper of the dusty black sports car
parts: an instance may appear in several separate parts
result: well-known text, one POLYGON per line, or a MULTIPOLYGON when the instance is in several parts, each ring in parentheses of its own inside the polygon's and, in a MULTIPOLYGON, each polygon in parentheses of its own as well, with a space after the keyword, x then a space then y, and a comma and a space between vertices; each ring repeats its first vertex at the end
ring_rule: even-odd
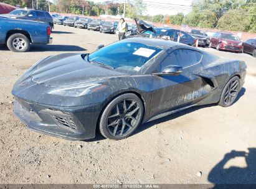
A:
POLYGON ((95 137, 100 108, 97 104, 54 109, 16 98, 14 114, 33 131, 69 140, 95 137))

